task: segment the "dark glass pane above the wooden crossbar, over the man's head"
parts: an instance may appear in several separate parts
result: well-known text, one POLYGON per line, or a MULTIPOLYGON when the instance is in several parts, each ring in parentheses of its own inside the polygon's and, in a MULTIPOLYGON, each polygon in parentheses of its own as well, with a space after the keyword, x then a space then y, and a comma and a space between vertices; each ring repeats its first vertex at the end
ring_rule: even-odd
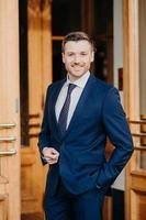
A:
POLYGON ((81 29, 80 0, 52 1, 52 30, 53 35, 66 35, 70 31, 81 29))

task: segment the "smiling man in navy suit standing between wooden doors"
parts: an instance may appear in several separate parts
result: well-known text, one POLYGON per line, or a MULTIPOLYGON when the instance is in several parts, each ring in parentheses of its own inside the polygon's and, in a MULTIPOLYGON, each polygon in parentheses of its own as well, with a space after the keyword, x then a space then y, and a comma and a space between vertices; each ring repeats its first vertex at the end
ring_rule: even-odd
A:
POLYGON ((47 89, 40 152, 49 164, 47 220, 101 220, 106 189, 133 152, 117 90, 89 72, 94 46, 83 32, 63 41, 67 78, 47 89), (115 150, 105 161, 106 136, 115 150))

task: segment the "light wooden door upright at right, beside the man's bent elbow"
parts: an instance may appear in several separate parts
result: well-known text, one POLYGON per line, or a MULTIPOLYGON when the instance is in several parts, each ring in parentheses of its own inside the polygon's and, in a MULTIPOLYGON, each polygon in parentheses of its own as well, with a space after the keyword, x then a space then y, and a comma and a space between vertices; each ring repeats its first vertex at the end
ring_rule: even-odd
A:
MULTIPOLYGON (((139 120, 139 42, 138 42, 138 0, 123 0, 124 40, 124 108, 130 120, 139 120)), ((133 129, 133 128, 132 128, 133 129)), ((132 220, 132 170, 135 168, 135 154, 126 167, 125 178, 125 219, 132 220)))

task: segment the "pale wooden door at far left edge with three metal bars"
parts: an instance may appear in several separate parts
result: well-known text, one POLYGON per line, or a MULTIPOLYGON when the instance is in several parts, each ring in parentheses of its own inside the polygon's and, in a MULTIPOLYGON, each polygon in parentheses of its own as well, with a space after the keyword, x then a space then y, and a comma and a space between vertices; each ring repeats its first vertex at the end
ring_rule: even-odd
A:
POLYGON ((0 1, 0 219, 20 220, 19 1, 0 1))

